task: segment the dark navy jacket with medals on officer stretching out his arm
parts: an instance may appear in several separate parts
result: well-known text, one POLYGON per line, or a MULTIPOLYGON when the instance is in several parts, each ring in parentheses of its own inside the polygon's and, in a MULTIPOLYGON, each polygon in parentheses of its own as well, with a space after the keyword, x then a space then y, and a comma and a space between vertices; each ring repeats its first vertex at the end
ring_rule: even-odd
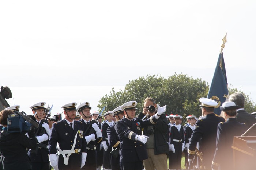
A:
POLYGON ((114 127, 120 139, 120 162, 137 162, 148 158, 146 145, 140 141, 135 141, 136 135, 142 135, 142 128, 155 124, 157 119, 151 116, 147 120, 133 118, 123 119, 114 123, 114 127))

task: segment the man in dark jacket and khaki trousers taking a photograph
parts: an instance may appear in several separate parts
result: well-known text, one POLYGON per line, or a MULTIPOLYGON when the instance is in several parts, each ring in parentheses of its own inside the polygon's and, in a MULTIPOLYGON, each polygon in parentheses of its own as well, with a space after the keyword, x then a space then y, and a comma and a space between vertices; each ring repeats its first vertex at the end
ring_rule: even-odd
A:
MULTIPOLYGON (((156 114, 157 104, 153 98, 144 100, 143 114, 148 115, 146 119, 156 114)), ((162 114, 154 125, 145 127, 143 135, 148 136, 146 143, 148 159, 143 161, 145 170, 168 169, 167 158, 169 146, 166 139, 168 123, 165 114, 162 114)))

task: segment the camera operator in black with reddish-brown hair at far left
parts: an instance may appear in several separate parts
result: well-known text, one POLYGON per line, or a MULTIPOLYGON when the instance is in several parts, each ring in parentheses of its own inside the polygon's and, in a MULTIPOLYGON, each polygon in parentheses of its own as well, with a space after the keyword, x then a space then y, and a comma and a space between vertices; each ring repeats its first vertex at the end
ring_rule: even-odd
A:
POLYGON ((33 129, 28 132, 29 137, 25 135, 26 132, 7 133, 7 119, 12 114, 14 113, 8 109, 0 112, 0 124, 3 125, 3 130, 0 132, 1 168, 28 170, 32 166, 26 148, 35 149, 37 139, 33 129))

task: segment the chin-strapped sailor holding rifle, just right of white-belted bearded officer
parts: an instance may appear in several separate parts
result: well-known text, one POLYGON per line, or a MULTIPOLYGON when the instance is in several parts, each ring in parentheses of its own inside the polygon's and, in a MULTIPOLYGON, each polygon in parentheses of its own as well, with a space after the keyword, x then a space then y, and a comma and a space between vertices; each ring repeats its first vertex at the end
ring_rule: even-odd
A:
MULTIPOLYGON (((99 129, 97 123, 93 123, 90 120, 90 103, 84 102, 78 106, 78 112, 81 115, 82 119, 80 122, 83 123, 84 126, 84 138, 87 142, 87 158, 85 162, 85 166, 83 169, 96 169, 97 167, 97 151, 96 146, 100 145, 102 141, 101 129, 99 129), (91 133, 91 134, 90 134, 91 133)), ((95 120, 94 120, 95 121, 95 120)))

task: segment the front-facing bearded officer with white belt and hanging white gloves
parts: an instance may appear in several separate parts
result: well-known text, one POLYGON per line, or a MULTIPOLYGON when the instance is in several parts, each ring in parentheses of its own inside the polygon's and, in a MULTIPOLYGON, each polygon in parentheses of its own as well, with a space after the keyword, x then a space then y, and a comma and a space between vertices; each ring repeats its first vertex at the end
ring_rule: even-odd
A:
POLYGON ((76 170, 85 165, 86 139, 82 122, 74 120, 76 105, 72 102, 62 106, 65 118, 53 123, 49 139, 49 161, 54 170, 76 170))

